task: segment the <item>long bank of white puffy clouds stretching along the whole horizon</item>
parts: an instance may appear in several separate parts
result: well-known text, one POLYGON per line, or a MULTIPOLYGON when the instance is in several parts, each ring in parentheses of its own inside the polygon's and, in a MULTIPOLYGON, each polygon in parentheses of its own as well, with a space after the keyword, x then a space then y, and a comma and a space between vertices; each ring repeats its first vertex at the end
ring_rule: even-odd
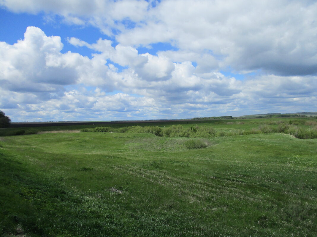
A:
POLYGON ((191 118, 317 109, 314 75, 262 74, 239 81, 220 73, 217 57, 205 49, 151 55, 139 54, 133 46, 113 47, 112 41, 101 38, 94 44, 76 38, 68 42, 93 49, 92 58, 61 53, 61 38, 46 36, 37 27, 28 27, 24 40, 14 45, 0 42, 0 107, 8 109, 14 121, 161 119, 173 114, 191 118), (195 61, 197 67, 191 63, 195 61))

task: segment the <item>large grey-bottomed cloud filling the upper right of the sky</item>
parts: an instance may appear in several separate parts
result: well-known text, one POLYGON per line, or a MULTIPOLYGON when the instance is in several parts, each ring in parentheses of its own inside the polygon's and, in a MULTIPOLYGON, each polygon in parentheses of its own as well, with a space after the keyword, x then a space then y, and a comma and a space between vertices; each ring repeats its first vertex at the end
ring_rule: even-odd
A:
POLYGON ((172 42, 182 51, 211 53, 221 68, 236 71, 316 74, 317 3, 271 3, 163 1, 149 11, 152 18, 119 34, 117 40, 122 45, 172 42))

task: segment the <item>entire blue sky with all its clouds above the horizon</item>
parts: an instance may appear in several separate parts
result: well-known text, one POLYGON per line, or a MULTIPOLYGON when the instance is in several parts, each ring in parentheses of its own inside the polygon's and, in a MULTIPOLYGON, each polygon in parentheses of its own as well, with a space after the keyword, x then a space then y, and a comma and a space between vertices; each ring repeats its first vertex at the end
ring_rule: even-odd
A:
POLYGON ((0 0, 13 122, 317 111, 317 1, 0 0))

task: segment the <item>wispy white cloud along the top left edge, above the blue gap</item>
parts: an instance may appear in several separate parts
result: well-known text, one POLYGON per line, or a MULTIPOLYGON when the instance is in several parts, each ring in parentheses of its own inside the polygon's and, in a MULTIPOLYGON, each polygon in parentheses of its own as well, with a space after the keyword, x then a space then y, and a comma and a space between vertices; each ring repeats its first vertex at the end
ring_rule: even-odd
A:
POLYGON ((99 27, 108 35, 141 21, 148 7, 151 6, 144 0, 2 0, 0 4, 16 13, 37 14, 44 11, 52 15, 49 17, 51 19, 54 19, 54 15, 58 15, 68 24, 99 27))

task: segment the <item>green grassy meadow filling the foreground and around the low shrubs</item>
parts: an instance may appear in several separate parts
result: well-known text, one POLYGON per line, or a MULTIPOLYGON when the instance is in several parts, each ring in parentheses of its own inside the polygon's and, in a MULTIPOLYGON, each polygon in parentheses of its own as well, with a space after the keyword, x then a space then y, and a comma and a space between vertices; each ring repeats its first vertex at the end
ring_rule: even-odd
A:
MULTIPOLYGON (((246 131, 261 124, 276 127, 276 121, 284 120, 183 126, 246 131)), ((316 168, 317 139, 282 133, 0 137, 0 231, 2 236, 316 236, 316 168), (207 147, 187 149, 189 140, 207 147)))

